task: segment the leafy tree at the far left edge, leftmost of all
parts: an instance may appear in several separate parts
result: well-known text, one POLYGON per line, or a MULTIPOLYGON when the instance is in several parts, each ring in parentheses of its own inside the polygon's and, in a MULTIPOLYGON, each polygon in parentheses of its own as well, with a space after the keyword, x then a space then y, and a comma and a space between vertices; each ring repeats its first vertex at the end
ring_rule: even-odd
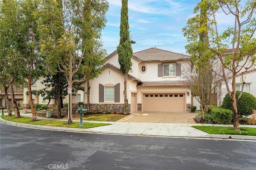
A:
POLYGON ((14 83, 17 84, 20 79, 17 67, 19 59, 15 48, 18 38, 18 7, 16 0, 0 1, 0 85, 5 91, 8 115, 12 116, 8 97, 8 90, 10 91, 16 118, 20 117, 13 92, 14 83))

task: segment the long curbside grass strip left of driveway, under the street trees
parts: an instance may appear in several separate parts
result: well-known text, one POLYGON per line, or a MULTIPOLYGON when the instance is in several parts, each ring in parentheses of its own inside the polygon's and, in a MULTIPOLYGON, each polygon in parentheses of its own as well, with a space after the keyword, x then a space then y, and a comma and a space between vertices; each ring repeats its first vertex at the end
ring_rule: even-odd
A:
POLYGON ((101 127, 106 125, 111 125, 108 123, 83 123, 84 126, 80 127, 80 122, 73 122, 72 125, 68 125, 67 121, 55 121, 55 120, 47 120, 47 119, 38 119, 38 121, 32 121, 32 118, 29 117, 21 117, 16 119, 15 115, 8 117, 7 115, 1 116, 2 119, 6 121, 12 121, 16 123, 25 123, 30 125, 44 125, 49 127, 69 127, 69 128, 93 128, 93 127, 101 127))

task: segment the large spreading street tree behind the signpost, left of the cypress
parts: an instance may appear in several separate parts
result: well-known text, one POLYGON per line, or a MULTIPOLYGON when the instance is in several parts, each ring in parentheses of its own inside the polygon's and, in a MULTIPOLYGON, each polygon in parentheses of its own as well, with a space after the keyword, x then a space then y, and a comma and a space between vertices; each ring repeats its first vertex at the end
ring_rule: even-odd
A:
MULTIPOLYGON (((65 73, 71 88, 75 82, 86 81, 89 68, 98 67, 94 61, 101 61, 106 55, 106 51, 101 49, 100 37, 106 24, 107 10, 106 0, 42 1, 37 17, 40 18, 41 50, 46 56, 47 71, 51 74, 56 71, 65 73), (97 55, 88 55, 88 47, 97 55), (76 74, 82 76, 74 79, 76 74)), ((68 120, 72 122, 72 105, 69 110, 68 120)))

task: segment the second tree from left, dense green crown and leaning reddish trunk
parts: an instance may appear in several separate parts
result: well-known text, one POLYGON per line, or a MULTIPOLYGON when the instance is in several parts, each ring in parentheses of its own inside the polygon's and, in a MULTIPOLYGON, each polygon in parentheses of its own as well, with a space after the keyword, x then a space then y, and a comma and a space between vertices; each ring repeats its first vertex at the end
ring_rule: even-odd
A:
POLYGON ((40 38, 38 34, 38 18, 34 14, 38 12, 40 0, 19 0, 18 39, 16 50, 18 51, 19 73, 26 87, 33 121, 37 121, 32 99, 31 86, 43 75, 44 59, 40 52, 40 38))

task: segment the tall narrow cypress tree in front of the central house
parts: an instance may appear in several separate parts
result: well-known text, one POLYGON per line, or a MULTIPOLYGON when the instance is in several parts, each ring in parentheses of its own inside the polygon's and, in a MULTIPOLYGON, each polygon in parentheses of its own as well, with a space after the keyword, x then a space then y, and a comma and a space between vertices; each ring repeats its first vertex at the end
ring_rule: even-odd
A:
POLYGON ((118 62, 124 75, 124 114, 127 114, 127 75, 132 66, 132 45, 130 42, 128 22, 128 0, 122 0, 120 21, 120 42, 117 46, 118 62))

